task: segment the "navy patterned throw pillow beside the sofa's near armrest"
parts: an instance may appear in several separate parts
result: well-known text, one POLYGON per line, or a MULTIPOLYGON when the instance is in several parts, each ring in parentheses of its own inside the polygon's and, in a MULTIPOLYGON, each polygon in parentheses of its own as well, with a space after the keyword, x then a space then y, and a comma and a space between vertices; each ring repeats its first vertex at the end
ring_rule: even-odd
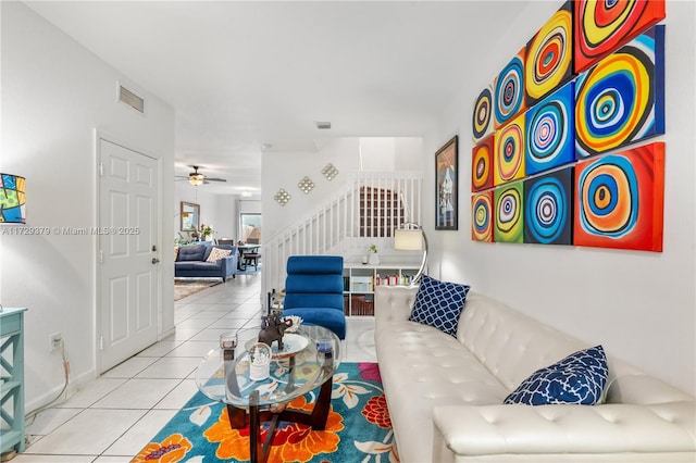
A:
POLYGON ((605 350, 601 346, 596 346, 537 370, 504 403, 594 405, 601 398, 608 374, 605 350))

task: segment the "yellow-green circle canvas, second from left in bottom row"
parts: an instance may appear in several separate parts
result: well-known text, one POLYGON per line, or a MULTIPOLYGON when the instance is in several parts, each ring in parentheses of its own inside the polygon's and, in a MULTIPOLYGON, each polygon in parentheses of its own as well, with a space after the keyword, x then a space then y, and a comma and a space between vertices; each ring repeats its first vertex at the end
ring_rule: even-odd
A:
POLYGON ((496 242, 524 242, 524 185, 514 182, 494 190, 496 242))

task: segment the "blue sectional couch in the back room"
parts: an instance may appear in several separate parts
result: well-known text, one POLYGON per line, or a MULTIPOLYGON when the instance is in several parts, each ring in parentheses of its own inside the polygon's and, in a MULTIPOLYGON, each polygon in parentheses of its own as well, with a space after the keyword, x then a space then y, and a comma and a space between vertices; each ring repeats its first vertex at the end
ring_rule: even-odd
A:
POLYGON ((222 278, 235 277, 237 273, 237 247, 231 245, 186 245, 178 248, 174 260, 174 277, 222 278), (213 249, 232 251, 229 255, 215 262, 208 262, 213 249))

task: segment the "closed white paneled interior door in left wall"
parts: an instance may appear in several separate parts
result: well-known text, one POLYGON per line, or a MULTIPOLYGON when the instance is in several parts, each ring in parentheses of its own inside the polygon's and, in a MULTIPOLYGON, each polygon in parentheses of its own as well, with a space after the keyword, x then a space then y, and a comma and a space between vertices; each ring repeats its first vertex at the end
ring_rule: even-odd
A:
POLYGON ((100 373, 157 342, 158 162, 99 139, 100 373))

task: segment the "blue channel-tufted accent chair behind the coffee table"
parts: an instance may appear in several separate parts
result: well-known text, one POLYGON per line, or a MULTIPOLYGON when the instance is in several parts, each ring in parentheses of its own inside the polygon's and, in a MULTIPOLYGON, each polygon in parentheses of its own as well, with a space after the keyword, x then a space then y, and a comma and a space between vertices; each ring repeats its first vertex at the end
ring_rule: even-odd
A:
POLYGON ((287 260, 283 315, 331 329, 346 339, 344 258, 290 255, 287 260))

